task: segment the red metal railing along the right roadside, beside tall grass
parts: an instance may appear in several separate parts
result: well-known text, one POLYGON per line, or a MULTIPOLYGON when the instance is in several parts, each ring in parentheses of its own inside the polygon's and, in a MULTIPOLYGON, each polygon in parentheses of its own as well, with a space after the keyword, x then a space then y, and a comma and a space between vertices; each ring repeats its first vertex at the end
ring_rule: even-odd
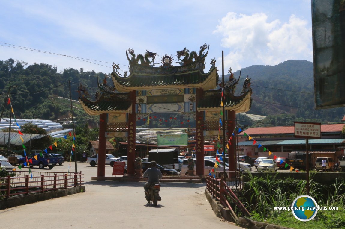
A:
MULTIPOLYGON (((213 198, 220 202, 224 207, 228 207, 231 212, 231 216, 234 220, 237 220, 235 211, 230 206, 228 197, 236 204, 236 206, 246 215, 250 216, 248 210, 244 207, 242 202, 237 198, 233 190, 229 188, 228 184, 234 184, 237 181, 237 178, 226 178, 226 179, 217 179, 213 176, 207 175, 206 177, 206 188, 210 192, 213 198)), ((233 187, 233 185, 231 185, 233 187)))

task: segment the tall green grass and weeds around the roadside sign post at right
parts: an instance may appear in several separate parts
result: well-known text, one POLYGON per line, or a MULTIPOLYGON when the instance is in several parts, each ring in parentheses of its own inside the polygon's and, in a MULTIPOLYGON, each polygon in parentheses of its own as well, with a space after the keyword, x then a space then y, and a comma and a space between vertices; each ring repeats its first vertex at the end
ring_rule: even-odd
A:
MULTIPOLYGON (((313 181, 310 174, 310 192, 319 206, 336 206, 338 210, 318 210, 314 219, 299 221, 292 211, 275 210, 275 206, 291 206, 300 195, 307 195, 306 181, 296 179, 275 179, 271 177, 253 177, 238 192, 238 197, 252 214, 250 219, 296 229, 345 228, 345 182, 336 182, 331 186, 313 181)), ((242 212, 236 212, 242 216, 242 212)))

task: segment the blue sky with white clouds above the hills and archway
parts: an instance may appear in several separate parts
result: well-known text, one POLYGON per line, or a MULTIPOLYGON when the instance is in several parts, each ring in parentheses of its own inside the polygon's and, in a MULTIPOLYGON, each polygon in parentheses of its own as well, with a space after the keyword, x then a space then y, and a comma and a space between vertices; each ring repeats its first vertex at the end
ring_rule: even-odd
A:
POLYGON ((224 50, 227 74, 230 67, 313 61, 311 19, 310 0, 1 1, 0 60, 110 73, 113 62, 128 70, 129 47, 157 52, 160 63, 166 53, 206 43, 206 69, 216 58, 221 74, 224 50))

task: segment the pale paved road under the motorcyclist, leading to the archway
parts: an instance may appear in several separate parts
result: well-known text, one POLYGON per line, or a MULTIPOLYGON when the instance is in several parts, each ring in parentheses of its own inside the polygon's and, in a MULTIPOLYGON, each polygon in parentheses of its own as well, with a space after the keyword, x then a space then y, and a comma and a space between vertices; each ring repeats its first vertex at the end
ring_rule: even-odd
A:
MULTIPOLYGON (((52 170, 67 169, 64 163, 52 170)), ((78 171, 85 174, 85 192, 0 210, 1 228, 240 228, 216 217, 205 184, 161 183, 162 201, 153 207, 146 205, 143 182, 91 181, 97 167, 86 163, 78 163, 78 171)), ((106 166, 106 176, 111 172, 106 166)))

